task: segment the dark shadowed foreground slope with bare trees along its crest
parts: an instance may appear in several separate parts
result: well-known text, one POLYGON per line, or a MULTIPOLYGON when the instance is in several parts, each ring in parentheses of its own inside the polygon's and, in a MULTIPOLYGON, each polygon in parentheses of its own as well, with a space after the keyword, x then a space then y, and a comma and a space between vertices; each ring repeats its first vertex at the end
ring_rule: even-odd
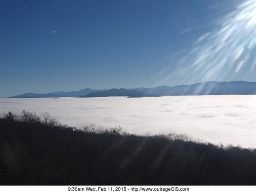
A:
MULTIPOLYGON (((34 118, 33 118, 34 117, 34 118)), ((1 185, 255 185, 256 149, 0 118, 1 185)))

